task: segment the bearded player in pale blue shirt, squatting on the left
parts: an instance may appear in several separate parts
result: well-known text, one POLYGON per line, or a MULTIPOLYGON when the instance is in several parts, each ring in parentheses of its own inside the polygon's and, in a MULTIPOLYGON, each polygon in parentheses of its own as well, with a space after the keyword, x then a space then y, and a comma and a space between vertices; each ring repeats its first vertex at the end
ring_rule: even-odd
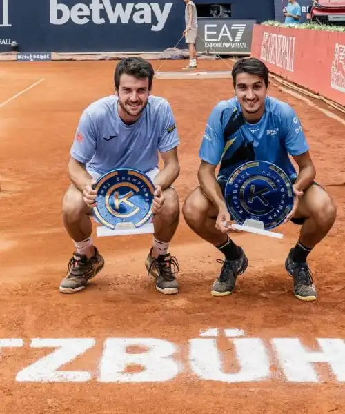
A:
POLYGON ((70 150, 70 187, 63 198, 63 224, 75 251, 62 293, 86 287, 104 266, 92 243, 92 184, 114 168, 135 168, 155 184, 153 242, 146 268, 159 292, 178 292, 178 263, 168 253, 179 222, 179 199, 172 184, 179 175, 179 137, 175 117, 166 99, 150 95, 154 70, 139 57, 122 59, 115 69, 115 95, 103 97, 86 108, 70 150), (159 170, 159 153, 164 168, 159 170))

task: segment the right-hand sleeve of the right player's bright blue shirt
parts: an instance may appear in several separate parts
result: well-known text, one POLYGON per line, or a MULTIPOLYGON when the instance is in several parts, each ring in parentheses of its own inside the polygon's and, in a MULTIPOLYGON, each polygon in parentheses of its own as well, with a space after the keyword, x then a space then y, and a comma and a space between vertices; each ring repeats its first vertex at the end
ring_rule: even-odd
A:
POLYGON ((285 146, 290 155, 301 155, 309 150, 308 142, 295 111, 290 106, 282 111, 285 146))

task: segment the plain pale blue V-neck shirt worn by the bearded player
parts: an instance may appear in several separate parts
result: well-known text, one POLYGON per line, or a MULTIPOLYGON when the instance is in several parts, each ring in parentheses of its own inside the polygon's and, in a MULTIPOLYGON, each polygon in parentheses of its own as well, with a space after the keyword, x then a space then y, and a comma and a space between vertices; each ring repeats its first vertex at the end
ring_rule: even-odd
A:
POLYGON ((158 166, 159 152, 179 145, 170 104, 150 96, 141 117, 126 125, 119 117, 118 99, 117 95, 104 97, 83 111, 70 155, 99 174, 114 168, 148 172, 158 166))

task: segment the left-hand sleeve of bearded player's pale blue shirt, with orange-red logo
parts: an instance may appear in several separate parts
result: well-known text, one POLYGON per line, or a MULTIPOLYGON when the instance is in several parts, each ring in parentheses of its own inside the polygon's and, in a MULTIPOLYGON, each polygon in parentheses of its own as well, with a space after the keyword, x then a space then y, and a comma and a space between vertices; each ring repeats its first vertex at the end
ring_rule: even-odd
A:
POLYGON ((86 164, 95 154, 96 142, 95 124, 88 112, 84 110, 79 119, 70 155, 81 164, 86 164))

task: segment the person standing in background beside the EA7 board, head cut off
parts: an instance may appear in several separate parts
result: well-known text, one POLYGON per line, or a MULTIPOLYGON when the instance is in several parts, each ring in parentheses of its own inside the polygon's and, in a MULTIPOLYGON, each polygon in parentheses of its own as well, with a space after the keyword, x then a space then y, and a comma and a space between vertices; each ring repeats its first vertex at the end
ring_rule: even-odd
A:
POLYGON ((197 68, 197 50, 195 49, 195 41, 197 39, 197 8, 191 0, 184 0, 184 3, 186 3, 186 9, 184 11, 186 29, 184 30, 183 36, 186 39, 189 50, 189 65, 184 69, 190 70, 197 68))

